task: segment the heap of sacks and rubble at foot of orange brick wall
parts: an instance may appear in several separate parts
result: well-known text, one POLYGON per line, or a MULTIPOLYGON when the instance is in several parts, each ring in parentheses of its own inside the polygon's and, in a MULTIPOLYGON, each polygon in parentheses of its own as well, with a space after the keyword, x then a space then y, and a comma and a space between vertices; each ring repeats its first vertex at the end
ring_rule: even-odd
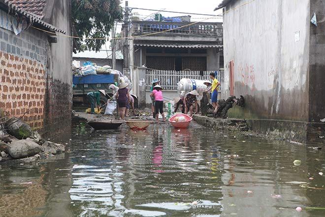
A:
POLYGON ((65 151, 61 144, 45 141, 19 118, 0 118, 0 164, 25 164, 65 151))

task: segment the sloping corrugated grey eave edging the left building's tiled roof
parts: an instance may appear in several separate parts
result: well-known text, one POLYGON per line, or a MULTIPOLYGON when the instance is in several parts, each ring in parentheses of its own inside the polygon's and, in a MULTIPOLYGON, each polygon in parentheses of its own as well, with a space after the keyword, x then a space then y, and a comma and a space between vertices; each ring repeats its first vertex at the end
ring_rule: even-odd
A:
POLYGON ((59 28, 42 21, 40 16, 35 15, 31 12, 28 12, 28 11, 24 10, 24 8, 19 8, 17 5, 13 4, 10 0, 4 0, 4 2, 7 3, 8 7, 10 9, 12 9, 12 10, 24 15, 28 19, 30 19, 31 23, 38 23, 39 25, 41 25, 51 31, 65 34, 65 31, 60 30, 59 28))

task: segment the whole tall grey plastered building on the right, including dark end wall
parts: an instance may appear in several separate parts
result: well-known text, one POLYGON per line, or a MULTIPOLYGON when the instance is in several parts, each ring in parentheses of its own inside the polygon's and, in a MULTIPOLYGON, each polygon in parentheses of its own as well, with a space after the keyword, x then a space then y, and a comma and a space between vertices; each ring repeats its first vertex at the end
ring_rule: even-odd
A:
POLYGON ((297 126, 287 132, 292 138, 301 133, 301 141, 322 138, 325 24, 315 26, 311 19, 314 14, 318 20, 324 18, 325 3, 224 0, 216 9, 220 8, 224 8, 223 97, 243 95, 247 105, 232 115, 289 121, 297 126))

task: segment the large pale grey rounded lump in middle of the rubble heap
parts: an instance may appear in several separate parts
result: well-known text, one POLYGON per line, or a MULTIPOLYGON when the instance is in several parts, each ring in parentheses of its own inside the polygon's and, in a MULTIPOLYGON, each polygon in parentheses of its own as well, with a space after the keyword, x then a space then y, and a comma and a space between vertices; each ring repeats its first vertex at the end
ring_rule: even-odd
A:
POLYGON ((13 141, 7 146, 8 154, 16 159, 30 157, 41 152, 40 145, 29 140, 13 141))

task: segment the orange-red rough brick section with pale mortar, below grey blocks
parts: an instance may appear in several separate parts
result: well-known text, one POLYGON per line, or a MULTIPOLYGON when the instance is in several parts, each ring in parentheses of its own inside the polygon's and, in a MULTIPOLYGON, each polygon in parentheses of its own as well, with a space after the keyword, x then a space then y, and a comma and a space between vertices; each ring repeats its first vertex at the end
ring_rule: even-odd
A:
POLYGON ((42 128, 44 77, 40 62, 0 51, 0 108, 10 117, 23 116, 32 128, 42 128))

